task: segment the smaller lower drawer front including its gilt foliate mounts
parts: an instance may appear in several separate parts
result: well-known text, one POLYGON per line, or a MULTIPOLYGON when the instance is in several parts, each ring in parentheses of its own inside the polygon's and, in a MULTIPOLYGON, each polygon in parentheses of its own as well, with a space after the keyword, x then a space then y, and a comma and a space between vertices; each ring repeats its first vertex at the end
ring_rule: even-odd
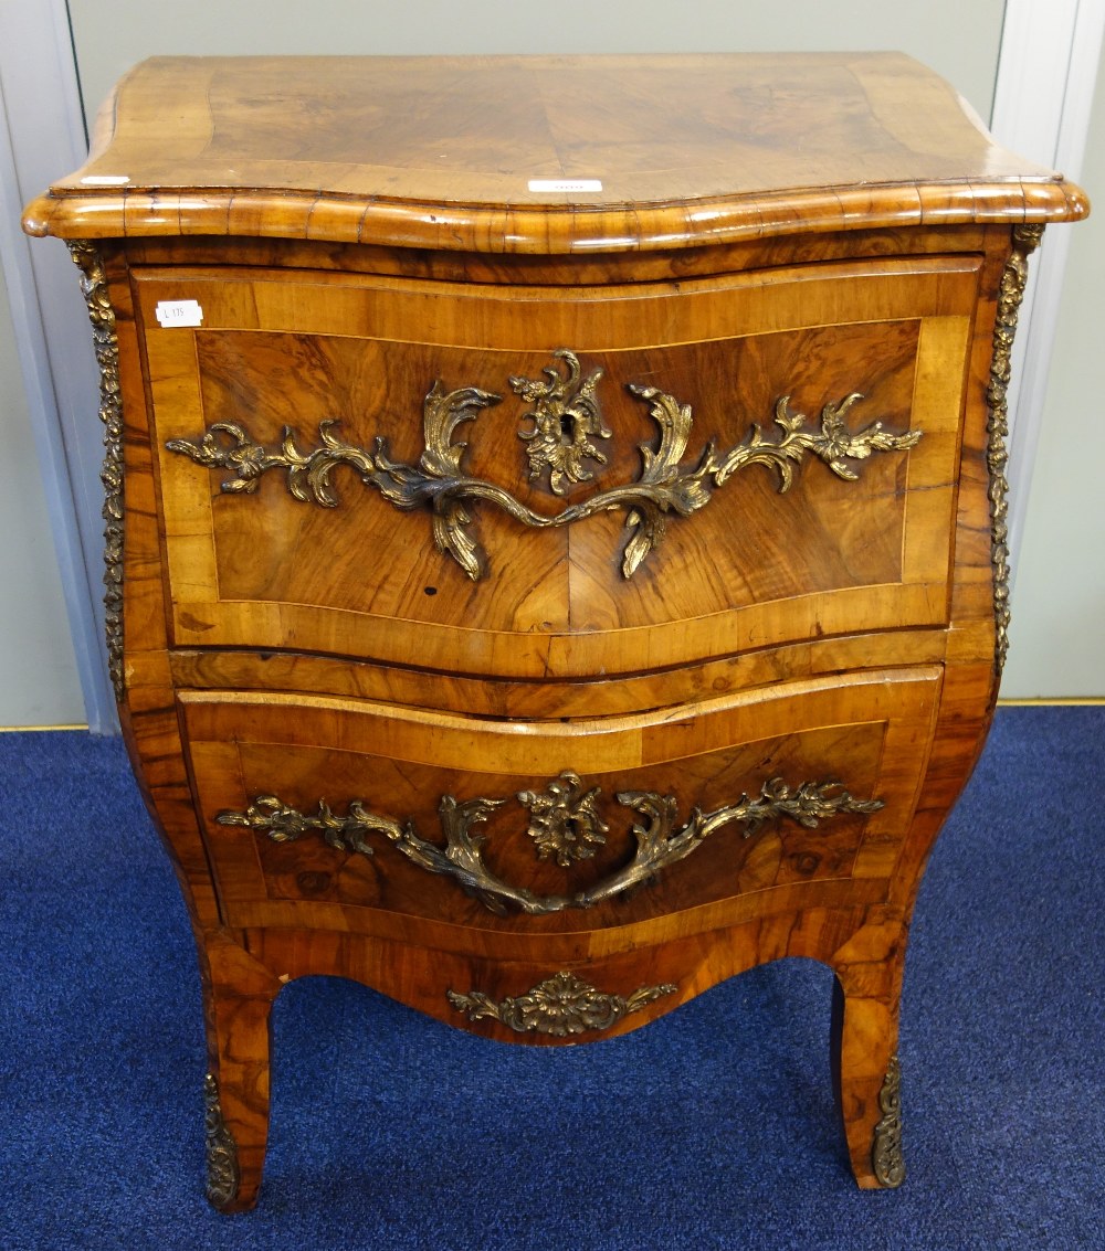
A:
POLYGON ((227 923, 387 933, 382 918, 423 918, 518 936, 880 898, 940 674, 574 723, 178 698, 227 923))

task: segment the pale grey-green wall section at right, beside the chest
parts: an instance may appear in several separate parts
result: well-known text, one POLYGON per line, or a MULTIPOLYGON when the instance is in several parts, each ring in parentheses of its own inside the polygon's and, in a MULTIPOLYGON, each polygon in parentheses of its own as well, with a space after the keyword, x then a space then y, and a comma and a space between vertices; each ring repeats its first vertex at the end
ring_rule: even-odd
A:
MULTIPOLYGON (((1105 696, 1105 50, 1082 185, 1096 209, 1070 240, 1032 467, 1001 694, 1105 696)), ((1055 229, 1061 229, 1056 226, 1055 229)))

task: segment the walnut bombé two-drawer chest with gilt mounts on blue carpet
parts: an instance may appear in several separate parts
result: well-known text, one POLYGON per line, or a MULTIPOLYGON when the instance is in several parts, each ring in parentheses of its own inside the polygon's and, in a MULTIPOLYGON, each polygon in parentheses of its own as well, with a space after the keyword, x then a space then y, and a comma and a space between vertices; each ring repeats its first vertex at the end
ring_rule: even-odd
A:
POLYGON ((163 59, 29 209, 83 275, 108 644, 203 970, 503 1041, 836 973, 861 1186, 1005 649, 1025 263, 1077 188, 899 55, 163 59))

